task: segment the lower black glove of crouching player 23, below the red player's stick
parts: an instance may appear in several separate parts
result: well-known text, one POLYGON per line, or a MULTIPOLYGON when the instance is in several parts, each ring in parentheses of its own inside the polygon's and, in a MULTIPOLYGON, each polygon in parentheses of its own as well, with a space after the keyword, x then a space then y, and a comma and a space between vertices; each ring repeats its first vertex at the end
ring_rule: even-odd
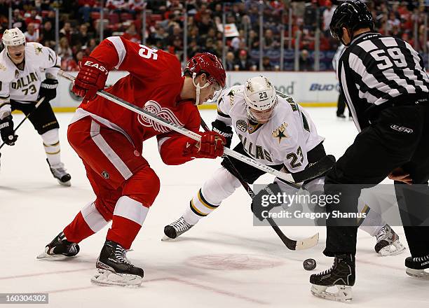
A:
POLYGON ((271 209, 282 205, 278 198, 278 194, 281 193, 280 186, 277 183, 271 183, 253 197, 250 209, 259 221, 264 221, 271 209))

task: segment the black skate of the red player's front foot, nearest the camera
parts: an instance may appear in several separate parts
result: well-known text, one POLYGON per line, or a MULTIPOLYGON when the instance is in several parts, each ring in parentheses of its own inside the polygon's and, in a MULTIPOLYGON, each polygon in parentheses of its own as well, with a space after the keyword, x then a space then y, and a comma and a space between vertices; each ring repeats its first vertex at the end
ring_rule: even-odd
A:
POLYGON ((142 284, 143 269, 132 265, 125 253, 121 245, 106 240, 96 263, 97 274, 91 278, 91 282, 102 286, 142 284))

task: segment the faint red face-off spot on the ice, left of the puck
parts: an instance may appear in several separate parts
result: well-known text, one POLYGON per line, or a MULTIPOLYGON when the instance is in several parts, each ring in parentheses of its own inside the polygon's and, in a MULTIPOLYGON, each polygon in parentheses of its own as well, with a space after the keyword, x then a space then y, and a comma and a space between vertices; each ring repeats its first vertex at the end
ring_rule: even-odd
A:
POLYGON ((196 255, 185 261, 186 265, 203 269, 263 269, 278 267, 284 262, 264 255, 222 253, 217 255, 196 255))

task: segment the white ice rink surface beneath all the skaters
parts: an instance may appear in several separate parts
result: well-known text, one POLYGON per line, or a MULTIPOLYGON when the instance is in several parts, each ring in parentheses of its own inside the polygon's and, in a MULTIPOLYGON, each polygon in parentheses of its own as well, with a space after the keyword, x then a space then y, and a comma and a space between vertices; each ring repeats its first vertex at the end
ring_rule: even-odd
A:
MULTIPOLYGON (((339 158, 355 137, 353 122, 337 120, 331 108, 308 111, 326 137, 327 153, 339 158)), ((215 111, 202 115, 210 123, 215 111)), ((50 175, 41 139, 30 123, 18 131, 16 146, 1 149, 0 293, 49 293, 50 307, 342 307, 310 293, 309 275, 332 265, 332 259, 322 255, 324 228, 282 227, 297 239, 320 231, 315 248, 289 251, 271 228, 252 226, 250 200, 243 189, 179 240, 161 241, 164 226, 179 218, 220 160, 166 166, 154 139, 145 142, 144 157, 161 179, 161 192, 132 245, 134 251, 128 253, 144 268, 141 288, 90 283, 107 228, 84 240, 76 258, 36 260, 48 241, 94 199, 83 165, 67 144, 71 116, 57 115, 71 188, 59 186, 50 175), (313 272, 303 269, 306 258, 317 260, 313 272)), ((18 123, 22 115, 14 118, 18 123)), ((270 179, 263 176, 258 183, 270 179)), ((395 230, 404 241, 402 228, 395 230)), ((361 231, 358 237, 353 306, 429 307, 429 281, 411 279, 404 272, 408 251, 381 258, 374 253, 374 238, 361 231)), ((28 307, 11 305, 21 306, 28 307)))

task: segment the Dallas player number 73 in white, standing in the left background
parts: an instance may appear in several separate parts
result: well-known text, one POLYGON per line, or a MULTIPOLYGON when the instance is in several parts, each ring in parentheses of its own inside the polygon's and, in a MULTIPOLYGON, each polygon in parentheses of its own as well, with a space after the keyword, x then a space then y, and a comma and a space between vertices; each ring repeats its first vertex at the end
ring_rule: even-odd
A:
POLYGON ((58 183, 70 186, 71 176, 60 158, 57 118, 49 101, 56 96, 60 57, 39 43, 26 43, 18 28, 8 29, 2 37, 4 50, 0 52, 0 134, 8 146, 18 136, 13 131, 11 112, 20 110, 41 135, 50 172, 58 183), (43 79, 45 75, 45 79, 43 79), (35 109, 36 102, 44 97, 35 109))

